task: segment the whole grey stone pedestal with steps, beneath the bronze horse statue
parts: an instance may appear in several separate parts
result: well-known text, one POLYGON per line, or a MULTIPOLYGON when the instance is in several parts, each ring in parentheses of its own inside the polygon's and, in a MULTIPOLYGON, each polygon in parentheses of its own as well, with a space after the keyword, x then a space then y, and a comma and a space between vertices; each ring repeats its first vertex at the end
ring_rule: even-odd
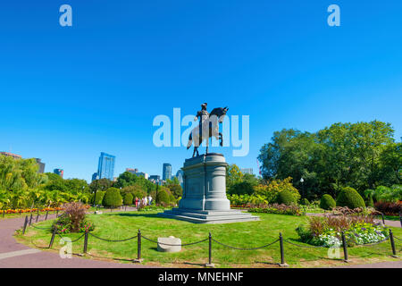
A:
POLYGON ((259 217, 230 209, 226 198, 225 157, 207 154, 187 159, 184 172, 183 196, 179 207, 159 214, 191 223, 238 223, 257 221, 259 217))

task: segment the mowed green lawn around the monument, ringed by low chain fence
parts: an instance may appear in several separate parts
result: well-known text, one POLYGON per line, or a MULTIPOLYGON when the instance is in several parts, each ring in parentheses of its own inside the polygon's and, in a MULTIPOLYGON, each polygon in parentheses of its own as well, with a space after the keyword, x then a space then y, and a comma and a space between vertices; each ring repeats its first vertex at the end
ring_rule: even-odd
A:
MULTIPOLYGON (((208 238, 211 232, 215 240, 237 248, 256 248, 279 238, 280 232, 284 239, 305 245, 298 241, 295 229, 299 224, 306 223, 306 216, 281 214, 255 214, 261 218, 259 222, 228 223, 228 224, 195 224, 173 219, 158 217, 157 212, 119 212, 100 215, 89 214, 88 219, 95 223, 93 233, 107 240, 124 240, 135 237, 138 229, 143 236, 157 240, 158 237, 174 236, 181 242, 191 243, 208 238)), ((51 225, 51 221, 37 223, 39 227, 51 225)), ((395 236, 402 238, 400 228, 392 228, 395 236)), ((79 238, 82 233, 68 234, 71 240, 79 238)), ((30 227, 25 236, 17 234, 17 239, 31 247, 46 247, 51 238, 49 231, 30 227)), ((73 253, 82 253, 83 239, 73 242, 73 253)), ((401 255, 402 243, 396 240, 398 255, 401 255)), ((54 240, 54 249, 60 249, 63 244, 60 238, 54 240)), ((208 241, 197 245, 183 247, 179 253, 163 253, 157 251, 154 242, 142 239, 143 264, 168 267, 202 267, 208 261, 208 241)), ((298 248, 284 243, 285 260, 290 267, 314 267, 344 265, 343 252, 340 249, 339 258, 329 258, 328 248, 298 248)), ((54 251, 54 250, 51 250, 54 251)), ((124 242, 107 242, 89 236, 88 253, 91 259, 113 259, 122 263, 131 263, 137 257, 137 238, 124 242)), ((371 247, 348 248, 349 259, 353 263, 364 264, 379 261, 392 261, 389 241, 371 247)), ((258 249, 237 250, 226 248, 213 241, 212 262, 217 267, 277 267, 281 262, 280 244, 258 249)))

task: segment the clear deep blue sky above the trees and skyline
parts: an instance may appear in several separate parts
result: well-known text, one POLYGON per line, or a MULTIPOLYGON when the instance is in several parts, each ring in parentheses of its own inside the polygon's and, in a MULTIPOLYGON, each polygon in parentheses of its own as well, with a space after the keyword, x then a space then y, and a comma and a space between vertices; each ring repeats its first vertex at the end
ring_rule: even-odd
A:
POLYGON ((0 150, 90 180, 100 152, 176 172, 185 147, 152 143, 155 115, 229 105, 250 115, 252 167, 272 132, 392 123, 402 136, 402 2, 2 1, 0 150), (73 27, 59 25, 71 4, 73 27), (339 4, 341 26, 327 25, 339 4))

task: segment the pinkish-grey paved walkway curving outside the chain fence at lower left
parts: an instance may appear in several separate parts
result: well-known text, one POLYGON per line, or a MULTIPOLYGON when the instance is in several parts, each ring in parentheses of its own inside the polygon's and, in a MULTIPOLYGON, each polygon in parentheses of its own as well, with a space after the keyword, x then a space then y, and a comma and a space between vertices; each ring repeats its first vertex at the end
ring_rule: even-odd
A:
MULTIPOLYGON (((42 215, 43 217, 43 215, 42 215)), ((48 218, 54 218, 49 214, 48 218)), ((13 233, 21 229, 25 216, 0 221, 0 268, 146 268, 147 265, 121 264, 72 256, 61 258, 58 253, 29 248, 18 243, 13 233)), ((40 221, 40 219, 39 219, 40 221)))

